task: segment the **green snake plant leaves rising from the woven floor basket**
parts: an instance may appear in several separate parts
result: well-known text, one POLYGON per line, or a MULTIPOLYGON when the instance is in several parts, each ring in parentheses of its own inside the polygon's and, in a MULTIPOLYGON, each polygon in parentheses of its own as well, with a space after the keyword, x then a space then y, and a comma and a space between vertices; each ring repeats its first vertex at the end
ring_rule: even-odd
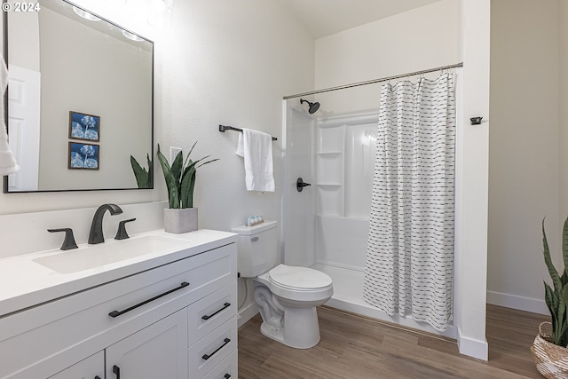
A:
POLYGON ((554 289, 548 283, 544 282, 545 301, 552 317, 552 336, 551 343, 559 346, 566 346, 568 343, 568 218, 564 222, 562 230, 562 257, 564 261, 564 269, 562 275, 556 271, 550 258, 550 250, 548 249, 547 234, 544 231, 544 220, 542 220, 542 245, 544 263, 547 265, 548 273, 554 289))

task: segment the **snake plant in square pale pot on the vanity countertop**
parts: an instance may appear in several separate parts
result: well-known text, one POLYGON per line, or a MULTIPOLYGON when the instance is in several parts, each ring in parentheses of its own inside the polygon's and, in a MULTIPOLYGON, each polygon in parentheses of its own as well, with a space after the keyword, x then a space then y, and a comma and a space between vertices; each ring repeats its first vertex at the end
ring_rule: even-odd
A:
POLYGON ((196 144, 197 142, 189 150, 185 162, 184 154, 179 152, 171 166, 160 151, 160 144, 158 144, 158 160, 162 166, 163 178, 168 187, 170 203, 169 209, 163 209, 163 224, 164 230, 169 233, 187 233, 197 230, 197 208, 193 207, 193 188, 197 168, 218 161, 218 159, 212 159, 202 162, 210 155, 194 162, 189 159, 189 155, 192 154, 193 147, 196 144))

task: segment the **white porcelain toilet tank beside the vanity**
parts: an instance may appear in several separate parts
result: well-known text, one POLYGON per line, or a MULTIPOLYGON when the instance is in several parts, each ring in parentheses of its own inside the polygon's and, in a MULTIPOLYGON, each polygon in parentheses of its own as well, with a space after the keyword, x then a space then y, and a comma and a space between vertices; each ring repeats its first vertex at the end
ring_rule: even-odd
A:
POLYGON ((276 221, 264 221, 254 226, 233 227, 238 233, 237 270, 243 278, 254 278, 280 264, 276 221))

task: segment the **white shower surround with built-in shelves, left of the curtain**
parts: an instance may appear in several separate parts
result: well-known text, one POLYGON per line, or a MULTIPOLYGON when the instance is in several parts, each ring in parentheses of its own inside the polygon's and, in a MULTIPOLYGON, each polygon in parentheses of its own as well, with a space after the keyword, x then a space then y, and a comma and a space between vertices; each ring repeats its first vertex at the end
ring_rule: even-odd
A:
MULTIPOLYGON (((377 89, 378 84, 367 87, 377 89)), ((337 96, 340 95, 335 93, 334 97, 337 96)), ((334 282, 334 296, 327 302, 329 306, 457 338, 457 328, 453 325, 445 332, 438 332, 411 316, 390 317, 363 300, 375 162, 374 144, 371 142, 370 148, 365 146, 368 141, 365 131, 376 133, 378 110, 332 115, 322 101, 320 113, 312 116, 299 104, 299 99, 283 103, 286 109, 282 133, 283 146, 286 146, 284 181, 292 183, 296 177, 302 177, 312 186, 304 188, 302 193, 287 186, 282 209, 285 264, 310 266, 326 272, 334 282), (358 140, 361 144, 356 146, 354 142, 358 140), (360 175, 355 174, 356 171, 360 175)))

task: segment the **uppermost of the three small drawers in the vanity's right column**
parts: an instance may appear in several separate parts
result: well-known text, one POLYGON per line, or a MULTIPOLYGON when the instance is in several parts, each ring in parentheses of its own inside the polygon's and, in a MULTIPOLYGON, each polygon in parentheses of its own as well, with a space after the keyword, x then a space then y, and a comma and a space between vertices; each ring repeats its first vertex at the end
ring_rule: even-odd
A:
POLYGON ((188 345, 196 343, 236 314, 237 288, 234 282, 191 304, 188 308, 188 345))

